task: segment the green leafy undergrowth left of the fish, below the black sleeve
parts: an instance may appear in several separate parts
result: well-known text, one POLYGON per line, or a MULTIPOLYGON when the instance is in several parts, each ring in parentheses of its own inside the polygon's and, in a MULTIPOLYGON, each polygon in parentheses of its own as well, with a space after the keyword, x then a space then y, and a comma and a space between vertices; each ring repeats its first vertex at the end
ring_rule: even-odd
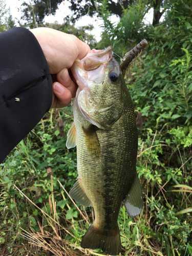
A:
MULTIPOLYGON (((26 201, 14 184, 48 215, 54 215, 55 210, 60 223, 60 216, 65 212, 66 219, 78 218, 79 212, 71 200, 64 197, 57 182, 62 182, 69 191, 77 177, 76 153, 66 149, 66 134, 72 122, 71 107, 61 113, 61 118, 65 120, 63 131, 59 130, 57 125, 59 116, 58 111, 47 114, 0 165, 0 212, 4 218, 0 230, 6 230, 2 243, 7 239, 9 232, 16 232, 19 227, 26 229, 30 226, 33 231, 38 231, 37 222, 42 221, 41 211, 26 201)), ((46 220, 44 224, 46 225, 46 220)), ((23 241, 21 238, 18 240, 20 243, 23 241)))

